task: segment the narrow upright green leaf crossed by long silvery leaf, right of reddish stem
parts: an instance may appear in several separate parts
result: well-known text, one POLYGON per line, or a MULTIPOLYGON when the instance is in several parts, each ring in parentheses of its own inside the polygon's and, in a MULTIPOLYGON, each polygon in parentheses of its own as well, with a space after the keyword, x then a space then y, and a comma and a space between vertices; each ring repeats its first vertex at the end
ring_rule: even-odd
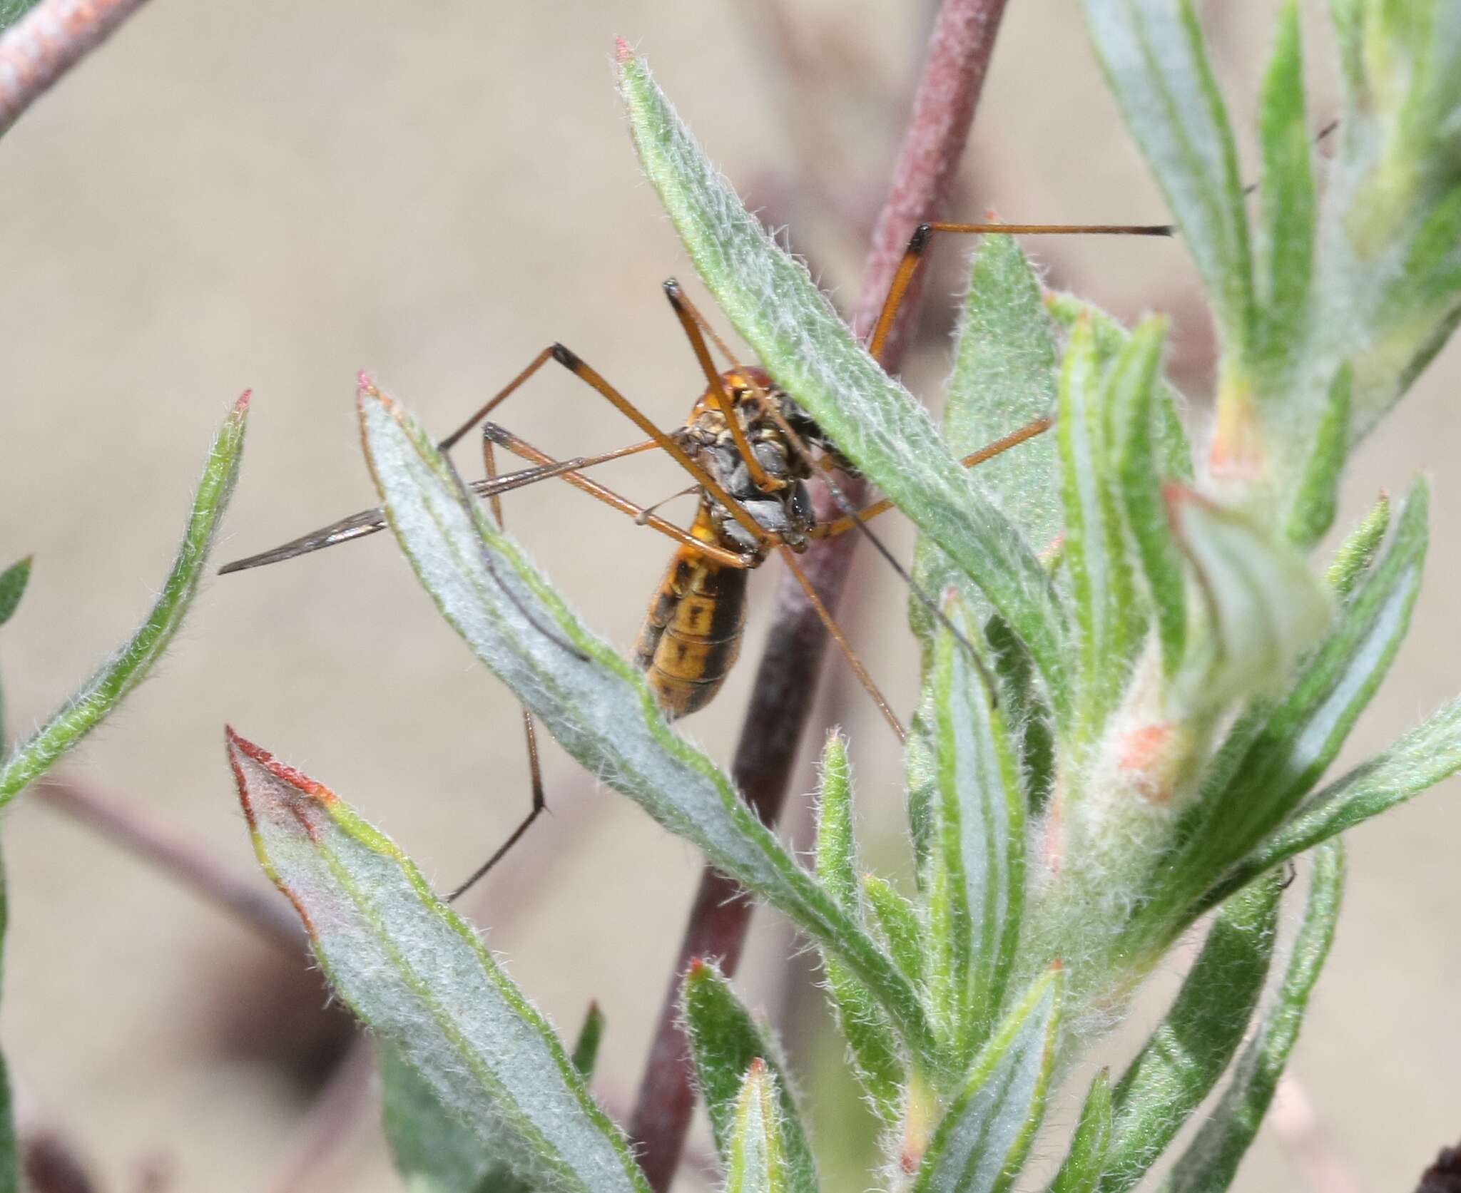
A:
MULTIPOLYGON (((852 825, 852 770, 847 743, 837 733, 823 751, 821 789, 817 800, 817 878, 847 916, 862 923, 858 898, 858 848, 852 825)), ((896 956, 896 955, 894 955, 896 956)), ((887 1015, 872 993, 837 959, 823 952, 827 990, 842 1034, 852 1050, 853 1072, 885 1123, 897 1120, 903 1086, 903 1060, 887 1015)), ((907 974, 907 970, 903 970, 907 974)), ((909 974, 912 978, 913 975, 909 974)), ((736 1069, 736 1079, 745 1070, 736 1069)))

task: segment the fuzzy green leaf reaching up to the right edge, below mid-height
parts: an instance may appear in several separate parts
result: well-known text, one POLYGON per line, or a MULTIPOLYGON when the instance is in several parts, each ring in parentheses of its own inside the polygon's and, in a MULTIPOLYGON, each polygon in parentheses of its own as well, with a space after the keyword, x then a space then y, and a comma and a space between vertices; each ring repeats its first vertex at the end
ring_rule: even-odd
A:
POLYGON ((1461 699, 1454 699, 1389 749, 1309 796, 1277 832, 1243 859, 1223 886, 1313 848, 1461 771, 1461 699))

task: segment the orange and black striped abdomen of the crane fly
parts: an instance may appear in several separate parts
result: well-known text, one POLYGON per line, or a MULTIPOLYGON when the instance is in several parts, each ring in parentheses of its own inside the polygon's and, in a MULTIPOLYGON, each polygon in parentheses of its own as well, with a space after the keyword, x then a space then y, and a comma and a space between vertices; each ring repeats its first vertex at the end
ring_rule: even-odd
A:
MULTIPOLYGON (((691 534, 714 542, 704 507, 691 534)), ((741 653, 744 629, 745 568, 678 548, 634 642, 634 661, 666 717, 684 717, 710 702, 741 653)))

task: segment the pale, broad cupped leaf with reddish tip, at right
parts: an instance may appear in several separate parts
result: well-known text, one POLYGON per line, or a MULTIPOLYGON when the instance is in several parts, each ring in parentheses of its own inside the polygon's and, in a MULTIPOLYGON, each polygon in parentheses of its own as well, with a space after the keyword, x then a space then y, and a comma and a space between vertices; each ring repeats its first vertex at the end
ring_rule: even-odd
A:
POLYGON ((1183 672, 1185 699, 1194 711, 1216 711, 1273 691, 1332 621, 1328 590, 1292 546, 1248 515, 1176 485, 1166 496, 1214 634, 1211 657, 1199 656, 1183 672))

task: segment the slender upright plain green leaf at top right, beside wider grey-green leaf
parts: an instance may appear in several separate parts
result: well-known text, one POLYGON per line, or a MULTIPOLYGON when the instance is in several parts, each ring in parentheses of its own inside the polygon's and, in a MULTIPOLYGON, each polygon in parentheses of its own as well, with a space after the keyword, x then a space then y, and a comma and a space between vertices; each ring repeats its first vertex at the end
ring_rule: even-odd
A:
MULTIPOLYGON (((1303 102, 1303 54, 1299 42, 1299 10, 1292 0, 1278 18, 1278 35, 1268 73, 1264 76, 1258 104, 1258 140, 1264 162, 1259 187, 1264 219, 1258 251, 1262 292, 1258 355, 1267 369, 1284 377, 1297 364, 1308 330, 1315 238, 1311 133, 1303 102)), ((1346 410, 1340 444, 1346 442, 1347 423, 1346 410)), ((1321 530, 1313 534, 1313 539, 1322 533, 1321 530)))

